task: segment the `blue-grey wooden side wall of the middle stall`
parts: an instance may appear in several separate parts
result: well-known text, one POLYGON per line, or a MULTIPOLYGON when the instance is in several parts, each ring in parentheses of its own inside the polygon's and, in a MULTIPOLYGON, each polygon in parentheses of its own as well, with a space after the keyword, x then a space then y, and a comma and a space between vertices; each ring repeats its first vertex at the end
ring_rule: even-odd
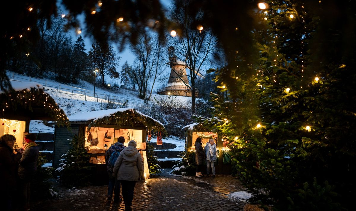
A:
POLYGON ((62 159, 62 155, 66 154, 69 150, 69 140, 72 139, 74 135, 78 137, 84 136, 84 124, 71 124, 70 128, 72 131, 69 131, 67 127, 58 127, 55 126, 56 133, 54 134, 54 149, 53 149, 53 168, 57 168, 62 159))

